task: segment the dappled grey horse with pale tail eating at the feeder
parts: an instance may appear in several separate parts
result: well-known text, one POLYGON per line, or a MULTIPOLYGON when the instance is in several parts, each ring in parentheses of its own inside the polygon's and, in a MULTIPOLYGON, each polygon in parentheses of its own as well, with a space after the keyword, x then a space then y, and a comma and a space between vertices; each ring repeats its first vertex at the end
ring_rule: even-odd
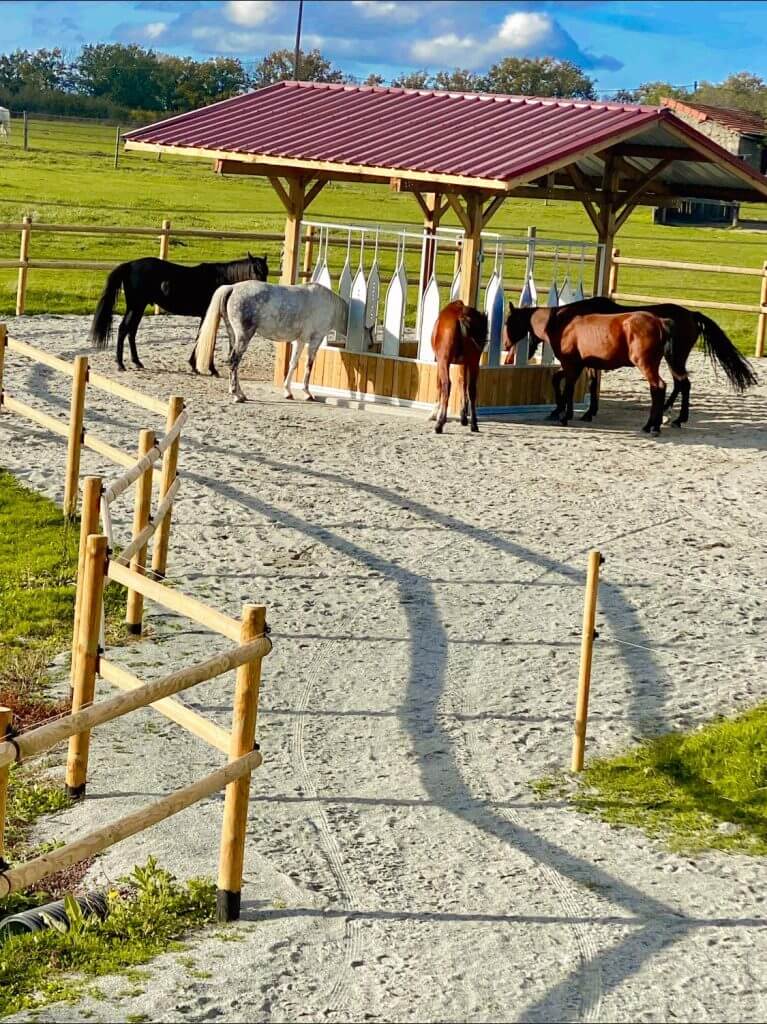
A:
MULTIPOLYGON (((303 390, 308 401, 309 378, 314 356, 331 331, 346 335, 349 304, 324 285, 267 285, 249 281, 240 285, 224 285, 216 289, 203 319, 197 340, 197 367, 203 370, 213 360, 218 325, 223 318, 229 337, 229 394, 236 401, 247 401, 240 387, 239 368, 250 344, 258 333, 270 341, 292 343, 290 367, 283 384, 286 398, 293 397, 293 375, 304 345, 309 346, 303 390)), ((369 342, 373 331, 366 328, 369 342)), ((191 353, 195 357, 195 352, 191 353)))

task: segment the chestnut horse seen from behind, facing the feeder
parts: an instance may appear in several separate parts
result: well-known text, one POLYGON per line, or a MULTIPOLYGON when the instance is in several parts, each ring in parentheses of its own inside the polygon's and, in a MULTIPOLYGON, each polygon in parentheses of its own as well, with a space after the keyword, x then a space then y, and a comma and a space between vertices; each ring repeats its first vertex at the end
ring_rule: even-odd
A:
POLYGON ((429 417, 436 419, 434 430, 441 434, 444 421, 448 419, 448 402, 451 396, 451 364, 463 367, 464 403, 461 408, 461 424, 469 422, 468 412, 471 406, 471 429, 476 433, 477 426, 477 378, 479 377, 479 358, 482 349, 487 344, 487 317, 473 306, 467 306, 460 299, 451 302, 437 316, 434 330, 431 333, 431 347, 437 360, 437 378, 439 383, 439 400, 429 417))

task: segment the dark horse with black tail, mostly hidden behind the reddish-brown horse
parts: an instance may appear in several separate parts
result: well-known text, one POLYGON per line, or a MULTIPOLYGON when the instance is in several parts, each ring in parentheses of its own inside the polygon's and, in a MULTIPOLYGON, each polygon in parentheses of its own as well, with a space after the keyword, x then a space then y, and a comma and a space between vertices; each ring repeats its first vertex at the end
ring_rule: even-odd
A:
MULTIPOLYGON (((698 338, 702 337, 704 349, 712 365, 719 365, 737 391, 744 391, 757 383, 757 377, 749 360, 740 354, 727 335, 715 321, 704 313, 687 309, 674 302, 663 302, 654 305, 622 306, 606 296, 596 295, 580 302, 571 302, 564 306, 531 306, 524 309, 509 307, 509 316, 504 332, 504 348, 509 351, 507 362, 513 357, 513 349, 517 342, 527 334, 532 337, 530 354, 535 353, 539 342, 548 341, 549 328, 561 330, 574 316, 589 313, 627 313, 650 312, 662 319, 673 324, 671 344, 664 353, 666 361, 674 378, 674 388, 665 403, 665 410, 670 410, 679 394, 682 406, 679 416, 672 421, 672 426, 681 427, 689 420, 690 381, 687 375, 687 359, 698 338)), ((581 417, 582 420, 593 420, 599 409, 599 379, 593 371, 587 371, 590 380, 589 408, 581 417)), ((556 409, 550 419, 559 419, 562 410, 562 397, 559 385, 564 377, 558 371, 552 378, 556 397, 556 409)))

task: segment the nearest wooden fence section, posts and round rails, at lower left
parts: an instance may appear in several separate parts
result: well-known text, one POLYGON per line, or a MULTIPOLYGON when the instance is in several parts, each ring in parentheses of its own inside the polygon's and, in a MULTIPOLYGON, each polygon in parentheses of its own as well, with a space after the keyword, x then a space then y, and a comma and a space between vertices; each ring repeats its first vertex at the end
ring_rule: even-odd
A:
MULTIPOLYGON (((99 479, 89 478, 87 487, 89 494, 97 496, 102 489, 102 482, 99 479)), ((92 500, 89 501, 89 505, 93 505, 92 500)), ((238 645, 198 665, 152 682, 144 682, 105 658, 104 652, 99 647, 99 629, 106 580, 118 579, 129 588, 135 587, 137 582, 145 581, 138 572, 131 569, 123 570, 122 566, 117 566, 119 570, 117 574, 113 571, 116 563, 109 558, 106 537, 89 535, 84 541, 85 554, 81 561, 82 570, 78 574, 75 604, 73 710, 70 715, 47 722, 14 736, 13 739, 2 739, 0 736, 0 808, 5 806, 8 785, 7 766, 12 763, 24 763, 51 750, 65 739, 69 739, 67 787, 73 798, 84 798, 91 730, 140 708, 154 708, 215 749, 223 750, 228 754, 229 763, 154 804, 91 831, 67 846, 36 857, 26 864, 12 868, 0 865, 5 867, 4 870, 0 870, 0 899, 8 893, 17 892, 40 882, 54 871, 62 870, 91 857, 121 840, 143 831, 151 825, 225 787, 218 866, 217 916, 219 921, 236 920, 240 916, 250 776, 251 772, 261 764, 261 754, 255 742, 255 734, 261 662, 271 650, 271 641, 267 636, 266 609, 262 605, 246 604, 243 606, 241 621, 237 622, 186 595, 171 591, 160 584, 155 585, 147 594, 151 599, 174 610, 178 609, 180 600, 183 602, 182 607, 186 609, 185 613, 191 613, 196 621, 205 621, 211 624, 214 630, 226 636, 236 632, 238 645), (205 612, 202 609, 205 609, 205 612), (230 628, 231 625, 236 630, 230 628), (237 669, 238 675, 229 733, 190 708, 170 699, 174 694, 221 676, 232 669, 237 669), (94 702, 97 678, 111 681, 126 692, 94 702)), ((2 849, 2 824, 0 818, 0 849, 2 849)))

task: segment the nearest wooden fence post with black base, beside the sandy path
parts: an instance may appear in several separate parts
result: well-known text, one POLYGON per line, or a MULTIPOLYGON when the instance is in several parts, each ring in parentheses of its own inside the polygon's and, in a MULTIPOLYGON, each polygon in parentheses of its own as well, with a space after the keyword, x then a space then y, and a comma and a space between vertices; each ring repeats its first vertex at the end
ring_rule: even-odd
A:
MULTIPOLYGON (((265 630, 266 608, 262 604, 246 604, 243 607, 240 642, 248 643, 263 636, 265 630)), ((231 716, 230 762, 254 750, 260 684, 261 658, 249 662, 238 669, 231 716)), ((226 787, 218 860, 216 898, 218 921, 237 921, 240 916, 249 796, 250 773, 243 775, 236 782, 230 782, 226 787)))

